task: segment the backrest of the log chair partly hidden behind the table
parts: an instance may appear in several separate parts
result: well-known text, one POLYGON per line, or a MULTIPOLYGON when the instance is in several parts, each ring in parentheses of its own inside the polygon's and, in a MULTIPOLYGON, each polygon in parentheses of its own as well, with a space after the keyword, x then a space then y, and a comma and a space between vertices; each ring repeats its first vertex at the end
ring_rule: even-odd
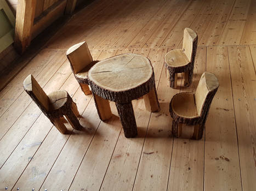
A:
POLYGON ((93 57, 90 54, 86 41, 71 46, 67 50, 66 55, 75 74, 93 62, 93 57))

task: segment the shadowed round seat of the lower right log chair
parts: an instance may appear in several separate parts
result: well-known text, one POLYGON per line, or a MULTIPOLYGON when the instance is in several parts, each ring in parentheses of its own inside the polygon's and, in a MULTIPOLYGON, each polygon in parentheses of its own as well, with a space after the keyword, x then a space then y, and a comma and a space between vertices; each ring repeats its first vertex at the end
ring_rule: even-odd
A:
POLYGON ((192 92, 183 92, 176 94, 172 99, 171 106, 173 112, 180 117, 198 117, 195 103, 195 95, 192 92))

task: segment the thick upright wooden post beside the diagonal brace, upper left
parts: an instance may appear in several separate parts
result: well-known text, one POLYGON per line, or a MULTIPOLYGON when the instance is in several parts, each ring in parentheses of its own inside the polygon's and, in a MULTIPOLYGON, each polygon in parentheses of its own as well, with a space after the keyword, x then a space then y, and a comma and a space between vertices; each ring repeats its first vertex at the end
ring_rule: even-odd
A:
POLYGON ((14 47, 23 53, 31 41, 31 29, 35 19, 36 0, 20 0, 16 12, 14 47))

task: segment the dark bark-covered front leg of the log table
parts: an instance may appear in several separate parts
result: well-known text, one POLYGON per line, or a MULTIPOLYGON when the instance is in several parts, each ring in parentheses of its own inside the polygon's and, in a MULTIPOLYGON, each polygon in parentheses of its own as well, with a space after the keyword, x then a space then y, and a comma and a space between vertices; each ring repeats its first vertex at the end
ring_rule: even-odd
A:
POLYGON ((126 138, 134 138, 138 135, 132 102, 120 104, 116 102, 116 108, 120 116, 126 138))

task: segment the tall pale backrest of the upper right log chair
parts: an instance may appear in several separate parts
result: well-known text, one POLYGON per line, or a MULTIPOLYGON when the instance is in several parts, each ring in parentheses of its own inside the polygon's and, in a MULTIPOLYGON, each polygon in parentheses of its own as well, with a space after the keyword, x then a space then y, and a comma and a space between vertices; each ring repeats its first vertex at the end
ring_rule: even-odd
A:
POLYGON ((194 62, 197 48, 197 34, 190 28, 184 29, 183 35, 183 51, 189 59, 189 62, 194 62), (192 57, 194 55, 194 57, 192 57))

